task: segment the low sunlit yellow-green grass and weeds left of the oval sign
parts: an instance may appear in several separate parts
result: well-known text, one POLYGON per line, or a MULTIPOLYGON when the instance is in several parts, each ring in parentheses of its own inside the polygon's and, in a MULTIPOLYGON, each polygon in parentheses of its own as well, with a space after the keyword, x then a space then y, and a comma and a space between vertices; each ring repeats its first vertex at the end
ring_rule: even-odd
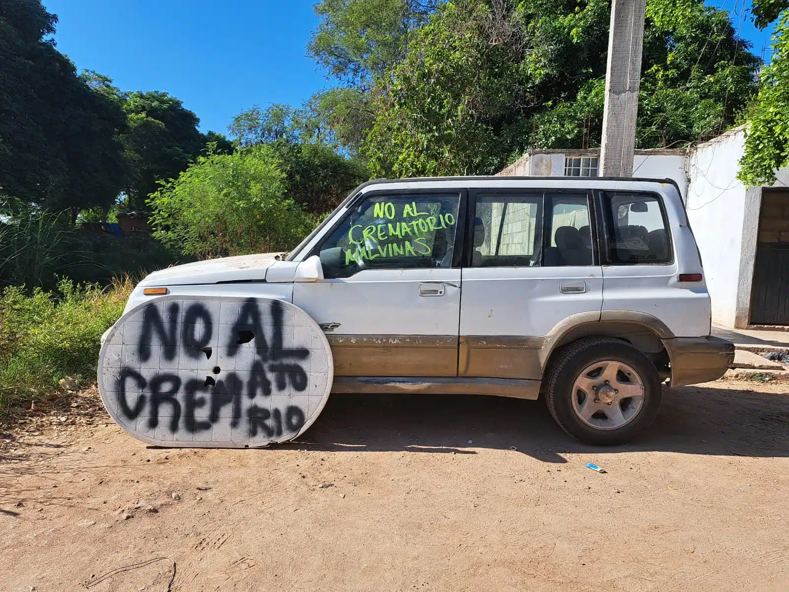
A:
POLYGON ((52 392, 58 380, 95 380, 100 339, 133 288, 62 279, 56 290, 6 287, 0 294, 0 411, 52 392))

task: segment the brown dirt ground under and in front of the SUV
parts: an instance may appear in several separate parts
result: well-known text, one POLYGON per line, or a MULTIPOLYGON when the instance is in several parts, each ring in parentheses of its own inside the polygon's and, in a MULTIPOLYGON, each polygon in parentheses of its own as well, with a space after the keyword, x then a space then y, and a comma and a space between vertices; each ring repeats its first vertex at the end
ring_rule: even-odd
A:
POLYGON ((332 395, 262 450, 149 447, 95 390, 0 432, 0 590, 789 590, 787 383, 667 391, 618 448, 473 396, 332 395))

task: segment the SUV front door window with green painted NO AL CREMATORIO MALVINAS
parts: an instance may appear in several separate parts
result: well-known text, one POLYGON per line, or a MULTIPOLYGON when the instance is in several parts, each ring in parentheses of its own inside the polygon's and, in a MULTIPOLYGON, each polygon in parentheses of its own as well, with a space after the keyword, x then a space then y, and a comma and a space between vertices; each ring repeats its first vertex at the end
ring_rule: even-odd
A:
POLYGON ((327 278, 452 266, 460 193, 372 194, 320 246, 327 278))

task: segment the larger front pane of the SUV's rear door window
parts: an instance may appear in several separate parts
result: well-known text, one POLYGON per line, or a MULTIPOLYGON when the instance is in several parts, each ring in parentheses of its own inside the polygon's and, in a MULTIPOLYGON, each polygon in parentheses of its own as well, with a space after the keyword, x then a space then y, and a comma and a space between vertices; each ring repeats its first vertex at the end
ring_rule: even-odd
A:
POLYGON ((540 264, 542 195, 477 194, 471 266, 540 264))

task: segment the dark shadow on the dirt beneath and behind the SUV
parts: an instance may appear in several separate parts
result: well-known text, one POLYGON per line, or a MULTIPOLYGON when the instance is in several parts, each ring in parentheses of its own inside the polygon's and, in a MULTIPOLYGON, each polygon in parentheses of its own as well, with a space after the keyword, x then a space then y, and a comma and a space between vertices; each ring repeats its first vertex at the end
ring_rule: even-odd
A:
POLYGON ((586 446, 568 436, 542 401, 475 395, 331 395, 304 437, 286 446, 455 454, 514 446, 545 462, 564 463, 560 454, 567 452, 789 456, 787 434, 789 394, 743 389, 667 389, 649 432, 633 444, 610 448, 586 446))

